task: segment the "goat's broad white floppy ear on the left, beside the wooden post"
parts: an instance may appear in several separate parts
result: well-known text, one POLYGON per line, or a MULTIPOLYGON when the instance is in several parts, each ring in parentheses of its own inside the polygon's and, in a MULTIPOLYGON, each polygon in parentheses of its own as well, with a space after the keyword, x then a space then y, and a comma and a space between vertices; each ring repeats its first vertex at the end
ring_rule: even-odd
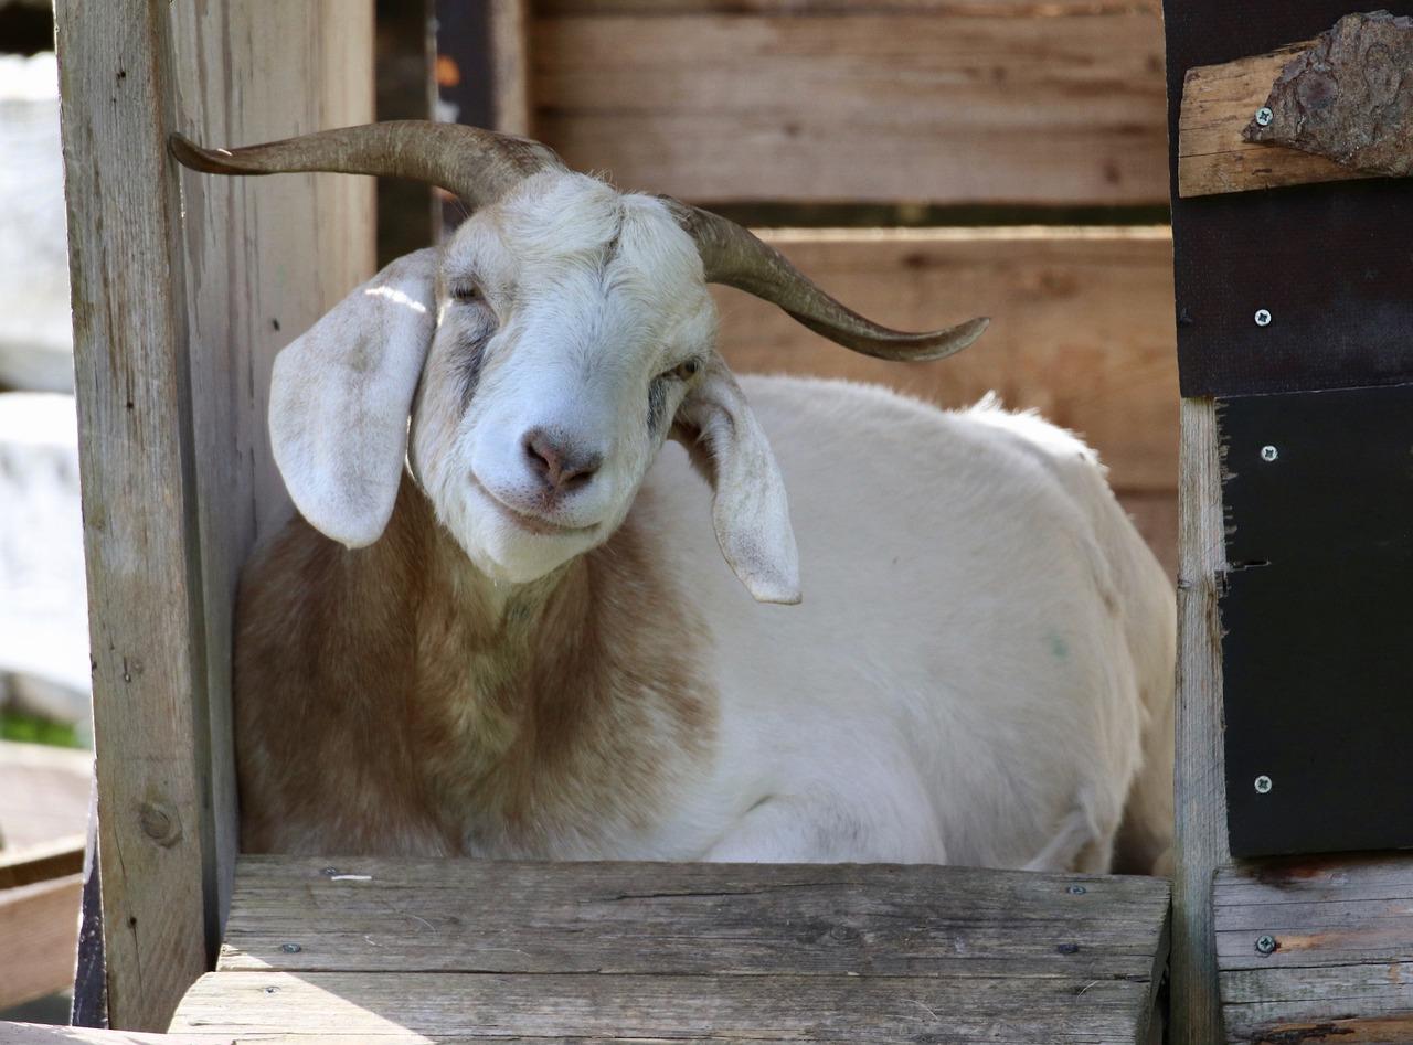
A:
POLYGON ((435 249, 400 257, 274 362, 270 439, 284 484, 319 532, 362 548, 393 514, 407 418, 437 326, 435 249))

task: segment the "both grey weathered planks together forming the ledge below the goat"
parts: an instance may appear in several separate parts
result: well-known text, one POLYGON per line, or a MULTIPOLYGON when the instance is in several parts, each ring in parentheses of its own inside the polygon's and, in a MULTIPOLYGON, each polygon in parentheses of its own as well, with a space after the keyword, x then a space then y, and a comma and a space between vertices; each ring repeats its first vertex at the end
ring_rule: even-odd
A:
POLYGON ((1167 883, 243 857, 172 1029, 240 1041, 1139 1042, 1167 883))

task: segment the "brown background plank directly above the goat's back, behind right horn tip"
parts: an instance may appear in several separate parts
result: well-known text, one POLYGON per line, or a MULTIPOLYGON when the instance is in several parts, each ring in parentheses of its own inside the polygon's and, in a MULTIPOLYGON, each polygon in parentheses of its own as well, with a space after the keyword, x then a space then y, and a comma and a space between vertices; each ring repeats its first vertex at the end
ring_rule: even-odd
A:
POLYGON ((1099 450, 1121 491, 1177 487, 1177 356, 1167 229, 764 230, 851 306, 901 329, 993 318, 941 363, 845 352, 771 305, 718 289, 738 370, 876 381, 945 407, 988 391, 1099 450))

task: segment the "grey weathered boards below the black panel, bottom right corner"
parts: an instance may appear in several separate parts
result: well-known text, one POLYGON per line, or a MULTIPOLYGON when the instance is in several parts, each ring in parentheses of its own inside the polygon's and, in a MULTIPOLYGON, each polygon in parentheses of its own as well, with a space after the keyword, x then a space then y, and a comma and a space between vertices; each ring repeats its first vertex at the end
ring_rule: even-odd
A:
POLYGON ((1413 1039, 1413 857, 1229 867, 1212 905, 1228 1041, 1413 1039))

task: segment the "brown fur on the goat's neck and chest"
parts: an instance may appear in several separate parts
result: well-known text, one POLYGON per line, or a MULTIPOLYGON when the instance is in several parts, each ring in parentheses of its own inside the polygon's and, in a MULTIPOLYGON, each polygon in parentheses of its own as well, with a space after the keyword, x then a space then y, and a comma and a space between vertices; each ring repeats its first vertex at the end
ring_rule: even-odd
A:
POLYGON ((373 547, 297 518, 250 563, 244 850, 612 856, 654 823, 712 747, 715 699, 650 535, 630 515, 499 617, 485 583, 406 477, 373 547))

